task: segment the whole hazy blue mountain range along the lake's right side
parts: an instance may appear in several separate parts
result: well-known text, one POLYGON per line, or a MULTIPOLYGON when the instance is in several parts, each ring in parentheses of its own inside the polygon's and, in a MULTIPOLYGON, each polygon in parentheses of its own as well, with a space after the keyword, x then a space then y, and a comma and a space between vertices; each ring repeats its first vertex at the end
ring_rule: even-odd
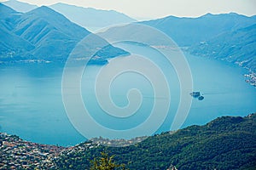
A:
MULTIPOLYGON (((198 18, 168 16, 138 24, 162 31, 190 54, 226 60, 256 71, 256 16, 247 17, 235 13, 206 14, 198 18)), ((112 27, 101 34, 121 39, 136 37, 139 31, 143 31, 143 26, 130 24, 112 27)), ((160 37, 152 34, 140 38, 148 42, 148 45, 166 45, 160 37)))

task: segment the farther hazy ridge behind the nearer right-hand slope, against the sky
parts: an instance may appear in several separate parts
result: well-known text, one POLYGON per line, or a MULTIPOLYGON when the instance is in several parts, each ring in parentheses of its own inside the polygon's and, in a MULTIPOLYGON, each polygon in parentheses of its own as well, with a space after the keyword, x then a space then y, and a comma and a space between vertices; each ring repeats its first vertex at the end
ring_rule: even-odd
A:
POLYGON ((163 31, 180 47, 190 47, 221 33, 252 26, 256 23, 256 16, 247 17, 236 13, 205 14, 198 18, 168 16, 140 23, 163 31))

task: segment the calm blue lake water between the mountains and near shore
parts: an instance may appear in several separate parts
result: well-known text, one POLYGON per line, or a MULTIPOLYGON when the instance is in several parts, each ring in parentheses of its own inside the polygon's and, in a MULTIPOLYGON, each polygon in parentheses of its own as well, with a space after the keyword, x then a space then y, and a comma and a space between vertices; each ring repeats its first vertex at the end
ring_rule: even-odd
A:
MULTIPOLYGON (((127 44, 123 47, 131 48, 127 44)), ((147 55, 148 58, 158 55, 157 52, 150 50, 145 52, 143 47, 132 47, 132 50, 137 51, 137 54, 147 55)), ((193 90, 200 91, 205 99, 192 99, 189 116, 182 127, 202 125, 218 116, 247 116, 256 111, 256 89, 245 82, 243 74, 246 70, 224 61, 190 54, 185 56, 193 77, 193 90)), ((131 56, 116 59, 129 58, 131 56)), ((116 59, 110 59, 109 65, 116 59)), ((155 133, 161 133, 170 130, 182 89, 172 66, 166 65, 163 59, 154 59, 154 63, 159 65, 167 77, 166 81, 170 85, 171 94, 168 115, 160 127, 155 129, 155 133)), ((113 103, 119 107, 128 105, 129 100, 126 94, 132 88, 140 90, 142 103, 136 113, 131 116, 118 117, 106 114, 99 107, 94 92, 98 72, 106 66, 108 65, 86 67, 81 81, 84 105, 90 111, 91 117, 108 129, 119 131, 139 126, 147 119, 153 108, 154 86, 148 82, 147 77, 137 72, 131 71, 119 75, 109 86, 113 103)), ((16 134, 22 139, 42 144, 73 145, 83 142, 84 136, 69 121, 62 102, 62 71, 61 66, 53 64, 0 65, 1 132, 16 134)), ((103 81, 99 87, 108 88, 108 84, 105 86, 103 81)), ((188 94, 188 98, 192 97, 188 94)), ((134 99, 131 96, 131 100, 137 101, 137 95, 134 99)), ((121 113, 119 114, 122 116, 121 113)), ((92 132, 93 130, 91 129, 92 132)), ((101 135, 108 137, 108 134, 101 135)), ((131 133, 129 137, 132 135, 131 133)), ((114 138, 114 136, 111 137, 114 138)), ((126 136, 121 137, 126 138, 126 136)))

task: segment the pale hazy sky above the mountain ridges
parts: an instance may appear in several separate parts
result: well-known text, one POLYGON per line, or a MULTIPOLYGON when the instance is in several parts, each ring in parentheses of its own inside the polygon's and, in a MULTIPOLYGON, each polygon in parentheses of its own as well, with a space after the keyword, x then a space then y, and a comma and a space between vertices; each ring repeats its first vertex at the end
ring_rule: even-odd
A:
MULTIPOLYGON (((0 0, 4 1, 4 0, 0 0)), ((113 9, 131 17, 160 18, 166 15, 200 16, 212 13, 256 14, 256 0, 20 0, 26 3, 49 5, 69 3, 83 7, 113 9)))

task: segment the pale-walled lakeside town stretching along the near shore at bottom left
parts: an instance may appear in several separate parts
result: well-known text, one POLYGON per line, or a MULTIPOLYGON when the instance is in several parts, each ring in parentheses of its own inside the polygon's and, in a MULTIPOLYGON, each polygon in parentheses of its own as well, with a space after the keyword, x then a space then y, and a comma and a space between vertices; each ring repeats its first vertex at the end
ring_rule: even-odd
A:
POLYGON ((50 144, 37 144, 20 139, 16 135, 0 133, 0 169, 58 169, 56 162, 63 155, 81 153, 100 145, 120 146, 143 141, 147 137, 136 139, 103 139, 62 147, 50 144))

